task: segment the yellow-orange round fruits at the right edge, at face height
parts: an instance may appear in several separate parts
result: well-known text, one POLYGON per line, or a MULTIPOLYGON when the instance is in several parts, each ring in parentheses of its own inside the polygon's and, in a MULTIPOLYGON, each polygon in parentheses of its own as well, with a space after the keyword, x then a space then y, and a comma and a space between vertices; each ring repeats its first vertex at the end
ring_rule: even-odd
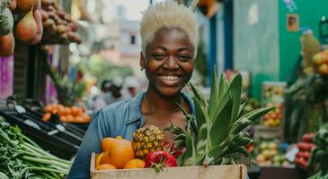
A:
POLYGON ((315 54, 312 61, 319 74, 328 76, 328 50, 315 54))

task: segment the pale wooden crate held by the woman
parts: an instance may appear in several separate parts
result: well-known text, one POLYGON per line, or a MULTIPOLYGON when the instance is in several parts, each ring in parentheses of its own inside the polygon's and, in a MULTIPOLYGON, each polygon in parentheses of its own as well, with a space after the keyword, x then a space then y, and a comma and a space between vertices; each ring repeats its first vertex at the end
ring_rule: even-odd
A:
POLYGON ((246 179, 247 175, 244 165, 166 167, 159 173, 154 168, 97 171, 95 158, 93 153, 90 165, 92 179, 246 179))

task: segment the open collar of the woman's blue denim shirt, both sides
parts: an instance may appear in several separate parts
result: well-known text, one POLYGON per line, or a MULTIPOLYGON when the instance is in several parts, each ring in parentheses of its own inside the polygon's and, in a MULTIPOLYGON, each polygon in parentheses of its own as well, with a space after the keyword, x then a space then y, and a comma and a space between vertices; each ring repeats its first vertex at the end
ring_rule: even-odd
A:
MULTIPOLYGON (((135 98, 131 98, 129 103, 129 119, 127 121, 127 124, 131 124, 133 122, 136 122, 138 120, 143 120, 142 114, 141 114, 141 101, 142 98, 144 98, 145 92, 141 92, 137 94, 135 98)), ((191 98, 184 92, 182 92, 182 98, 184 98, 189 107, 191 107, 191 115, 196 116, 195 112, 195 106, 193 104, 193 101, 191 98)))

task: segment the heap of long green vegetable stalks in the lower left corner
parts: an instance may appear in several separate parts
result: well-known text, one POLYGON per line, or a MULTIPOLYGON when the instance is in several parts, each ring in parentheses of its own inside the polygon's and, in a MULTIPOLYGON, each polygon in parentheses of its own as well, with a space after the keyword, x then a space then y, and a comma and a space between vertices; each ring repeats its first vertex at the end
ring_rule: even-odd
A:
POLYGON ((70 166, 0 117, 0 178, 65 178, 70 166))

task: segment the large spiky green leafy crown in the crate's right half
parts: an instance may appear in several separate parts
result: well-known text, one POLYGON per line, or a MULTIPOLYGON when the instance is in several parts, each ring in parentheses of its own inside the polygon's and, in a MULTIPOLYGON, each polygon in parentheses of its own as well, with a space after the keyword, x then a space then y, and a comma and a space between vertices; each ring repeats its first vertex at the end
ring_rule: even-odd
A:
POLYGON ((217 80, 213 70, 210 98, 207 101, 200 90, 190 83, 193 92, 196 116, 187 114, 183 108, 187 131, 171 126, 169 131, 175 137, 177 147, 186 147, 178 158, 179 166, 208 166, 240 163, 249 153, 244 146, 252 143, 243 130, 253 120, 266 114, 272 108, 260 108, 245 115, 241 111, 246 104, 242 96, 242 76, 237 74, 228 83, 224 73, 217 80))

